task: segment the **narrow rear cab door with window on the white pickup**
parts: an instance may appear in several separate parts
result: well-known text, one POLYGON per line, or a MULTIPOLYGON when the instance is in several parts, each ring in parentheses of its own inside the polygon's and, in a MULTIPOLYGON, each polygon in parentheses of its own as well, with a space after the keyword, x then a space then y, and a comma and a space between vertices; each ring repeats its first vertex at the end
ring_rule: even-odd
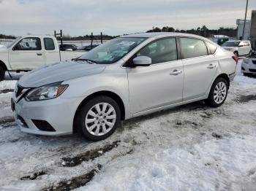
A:
POLYGON ((53 39, 50 37, 45 37, 43 42, 45 46, 45 65, 59 62, 60 53, 57 47, 58 44, 55 44, 53 39))

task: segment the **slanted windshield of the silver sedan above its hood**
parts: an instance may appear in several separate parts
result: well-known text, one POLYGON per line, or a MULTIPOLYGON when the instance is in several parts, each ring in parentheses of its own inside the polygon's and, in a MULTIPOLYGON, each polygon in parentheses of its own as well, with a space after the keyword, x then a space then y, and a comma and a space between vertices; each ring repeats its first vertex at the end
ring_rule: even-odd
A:
POLYGON ((94 63, 115 63, 145 39, 136 37, 112 39, 80 56, 78 60, 89 60, 94 63))

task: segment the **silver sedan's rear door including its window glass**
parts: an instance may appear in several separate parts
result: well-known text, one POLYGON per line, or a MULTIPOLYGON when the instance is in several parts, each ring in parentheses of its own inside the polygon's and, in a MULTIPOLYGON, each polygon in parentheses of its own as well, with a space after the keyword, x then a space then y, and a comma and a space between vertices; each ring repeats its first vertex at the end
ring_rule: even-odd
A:
POLYGON ((217 72, 218 61, 200 39, 180 38, 184 65, 184 101, 205 95, 217 72))

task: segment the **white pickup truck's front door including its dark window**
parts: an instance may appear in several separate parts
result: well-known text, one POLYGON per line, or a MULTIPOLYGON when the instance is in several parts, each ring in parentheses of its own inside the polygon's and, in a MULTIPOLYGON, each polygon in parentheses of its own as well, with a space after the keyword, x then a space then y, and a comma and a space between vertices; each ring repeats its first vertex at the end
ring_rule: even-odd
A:
POLYGON ((45 65, 45 55, 41 39, 26 37, 21 39, 9 52, 12 69, 37 69, 45 65))

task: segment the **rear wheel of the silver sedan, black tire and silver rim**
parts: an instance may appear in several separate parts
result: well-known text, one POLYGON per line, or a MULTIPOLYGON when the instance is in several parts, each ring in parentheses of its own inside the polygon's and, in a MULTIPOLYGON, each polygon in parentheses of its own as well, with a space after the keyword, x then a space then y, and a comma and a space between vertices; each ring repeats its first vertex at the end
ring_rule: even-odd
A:
POLYGON ((211 86, 206 103, 213 107, 221 106, 227 98, 227 90, 227 80, 222 77, 217 78, 211 86))

